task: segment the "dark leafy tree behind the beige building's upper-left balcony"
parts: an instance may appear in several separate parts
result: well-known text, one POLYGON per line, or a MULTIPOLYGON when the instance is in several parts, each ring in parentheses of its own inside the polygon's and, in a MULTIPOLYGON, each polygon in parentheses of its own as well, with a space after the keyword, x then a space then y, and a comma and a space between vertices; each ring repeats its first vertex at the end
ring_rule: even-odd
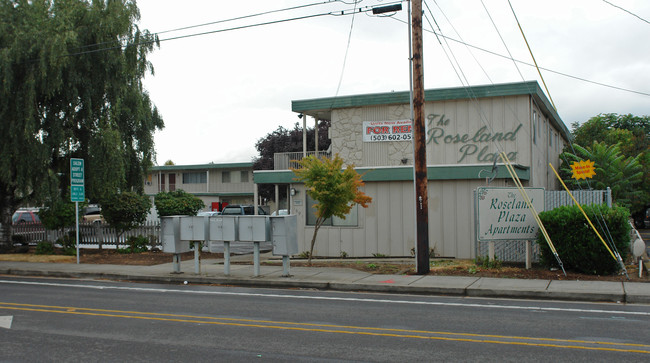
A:
MULTIPOLYGON (((330 139, 327 132, 330 127, 330 122, 323 120, 318 123, 318 149, 327 150, 330 146, 330 139)), ((314 140, 314 128, 307 128, 307 150, 314 151, 316 143, 314 140)), ((275 153, 284 152, 298 152, 302 151, 302 127, 296 122, 293 129, 289 130, 279 126, 275 131, 269 133, 265 137, 259 139, 255 144, 255 148, 260 153, 260 156, 253 162, 254 170, 273 170, 274 161, 273 155, 275 153)), ((281 188, 280 193, 286 193, 281 188)), ((275 190, 272 185, 260 185, 259 195, 262 198, 274 199, 275 190)), ((282 196, 281 196, 282 197, 282 196)), ((285 196, 286 197, 286 196, 285 196)))

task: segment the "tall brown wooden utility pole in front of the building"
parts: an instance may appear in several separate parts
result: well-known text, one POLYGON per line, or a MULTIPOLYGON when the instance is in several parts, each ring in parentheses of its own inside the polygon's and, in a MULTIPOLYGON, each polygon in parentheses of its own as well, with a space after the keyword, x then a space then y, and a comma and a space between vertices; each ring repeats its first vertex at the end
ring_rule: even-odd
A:
POLYGON ((413 176, 415 183, 415 267, 429 273, 429 194, 426 129, 424 125, 424 66, 422 62, 422 0, 411 1, 413 69, 413 176))

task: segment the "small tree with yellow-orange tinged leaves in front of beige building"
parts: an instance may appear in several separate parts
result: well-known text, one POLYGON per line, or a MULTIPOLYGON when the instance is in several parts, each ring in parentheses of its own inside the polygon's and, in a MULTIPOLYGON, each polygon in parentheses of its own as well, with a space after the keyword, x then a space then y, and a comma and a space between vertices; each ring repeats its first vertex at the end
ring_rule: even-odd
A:
POLYGON ((325 220, 332 216, 345 219, 354 204, 367 208, 372 198, 359 190, 364 183, 354 165, 343 169, 343 159, 338 154, 333 159, 307 156, 300 161, 300 166, 302 168, 291 170, 296 174, 296 180, 305 183, 307 195, 317 202, 314 205, 316 225, 309 249, 308 263, 311 264, 316 235, 325 220))

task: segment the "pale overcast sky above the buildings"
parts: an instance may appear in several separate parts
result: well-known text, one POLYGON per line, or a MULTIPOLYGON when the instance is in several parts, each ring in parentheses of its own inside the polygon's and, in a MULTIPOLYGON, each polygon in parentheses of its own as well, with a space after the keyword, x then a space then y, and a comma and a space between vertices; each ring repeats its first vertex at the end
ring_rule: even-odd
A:
MULTIPOLYGON (((154 135, 157 164, 252 161, 258 140, 301 122, 292 100, 407 91, 408 4, 373 16, 363 10, 395 1, 344 1, 137 1, 138 26, 161 39, 144 80, 165 122, 154 135)), ((650 1, 510 3, 569 129, 600 113, 650 115, 650 1)), ((543 87, 534 67, 509 59, 533 64, 508 0, 423 8, 426 89, 543 87)))

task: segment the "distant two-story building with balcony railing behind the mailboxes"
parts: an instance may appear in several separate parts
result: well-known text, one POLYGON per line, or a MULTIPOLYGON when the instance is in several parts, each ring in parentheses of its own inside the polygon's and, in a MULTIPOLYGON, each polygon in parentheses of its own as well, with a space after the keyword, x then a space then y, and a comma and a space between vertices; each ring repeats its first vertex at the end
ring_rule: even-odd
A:
MULTIPOLYGON (((253 204, 253 163, 154 166, 144 192, 182 189, 205 203, 205 210, 221 210, 228 204, 253 204)), ((155 211, 155 209, 154 209, 155 211)))

